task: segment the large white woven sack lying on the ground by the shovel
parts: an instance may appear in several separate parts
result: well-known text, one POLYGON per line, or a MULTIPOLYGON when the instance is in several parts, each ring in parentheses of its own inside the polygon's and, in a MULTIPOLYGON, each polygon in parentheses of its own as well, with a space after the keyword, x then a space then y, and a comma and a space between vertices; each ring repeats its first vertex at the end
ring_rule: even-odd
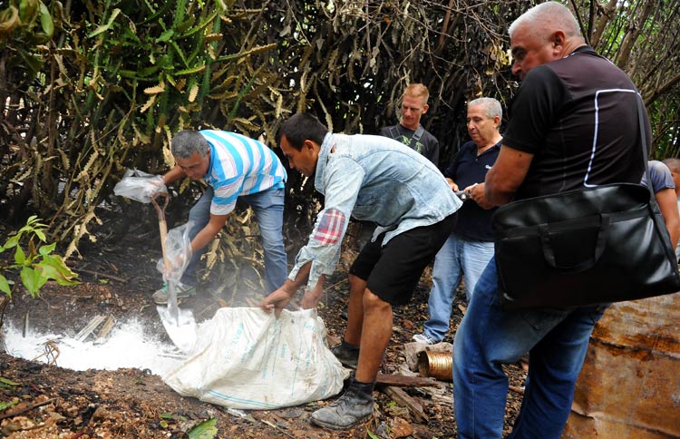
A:
POLYGON ((338 394, 349 376, 325 346, 316 310, 281 317, 257 307, 223 307, 202 323, 189 358, 163 376, 184 396, 243 409, 306 404, 338 394))

